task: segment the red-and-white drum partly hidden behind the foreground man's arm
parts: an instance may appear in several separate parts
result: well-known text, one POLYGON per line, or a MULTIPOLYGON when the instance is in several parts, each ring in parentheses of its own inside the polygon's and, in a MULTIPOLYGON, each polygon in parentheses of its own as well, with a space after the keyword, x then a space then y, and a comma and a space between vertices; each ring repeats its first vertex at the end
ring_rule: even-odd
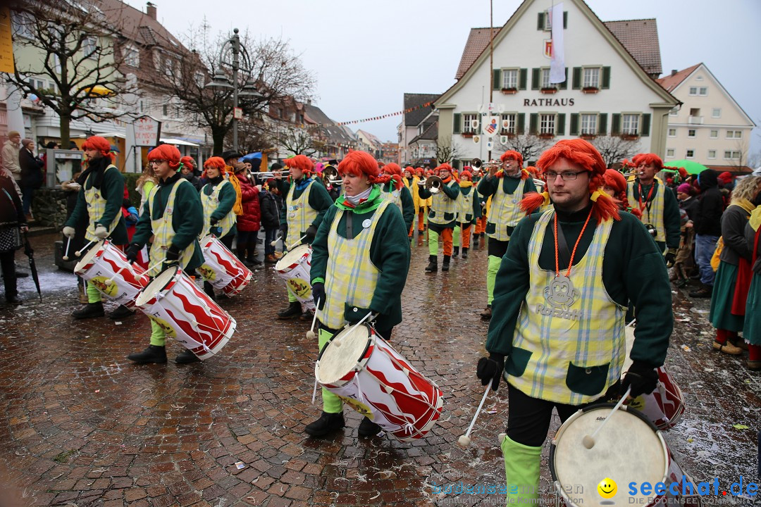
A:
MULTIPOLYGON (((632 366, 629 355, 634 345, 634 328, 626 326, 626 360, 623 363, 622 378, 632 366)), ((638 396, 626 402, 629 407, 635 408, 645 414, 658 429, 671 429, 677 425, 684 413, 684 395, 674 381, 666 366, 655 370, 658 372, 658 387, 649 395, 638 396)))

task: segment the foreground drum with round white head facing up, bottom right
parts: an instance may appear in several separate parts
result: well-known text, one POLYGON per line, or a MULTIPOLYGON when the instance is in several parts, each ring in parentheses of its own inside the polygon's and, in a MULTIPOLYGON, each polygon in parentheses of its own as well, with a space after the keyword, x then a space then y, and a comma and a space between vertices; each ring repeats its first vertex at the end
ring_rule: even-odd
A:
POLYGON ((594 433, 614 406, 579 410, 552 440, 549 471, 565 505, 702 505, 694 481, 673 460, 661 432, 636 410, 616 410, 594 437, 594 446, 584 446, 584 436, 594 433), (639 486, 645 482, 664 483, 664 493, 642 493, 639 486), (633 495, 629 483, 636 483, 633 495))

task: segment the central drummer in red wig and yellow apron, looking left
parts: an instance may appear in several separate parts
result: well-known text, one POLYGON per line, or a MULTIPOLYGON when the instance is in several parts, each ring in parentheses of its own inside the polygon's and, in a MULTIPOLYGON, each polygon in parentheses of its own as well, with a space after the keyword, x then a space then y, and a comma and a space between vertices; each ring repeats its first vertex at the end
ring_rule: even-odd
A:
MULTIPOLYGON (((402 290, 409 269, 407 228, 399 208, 380 195, 380 175, 371 154, 352 151, 338 166, 343 199, 325 214, 312 243, 312 293, 320 319, 319 346, 347 323, 368 313, 385 339, 402 322, 402 290)), ((341 399, 323 389, 323 413, 306 427, 323 436, 345 426, 341 399)), ((375 435, 380 426, 365 417, 360 436, 375 435)))

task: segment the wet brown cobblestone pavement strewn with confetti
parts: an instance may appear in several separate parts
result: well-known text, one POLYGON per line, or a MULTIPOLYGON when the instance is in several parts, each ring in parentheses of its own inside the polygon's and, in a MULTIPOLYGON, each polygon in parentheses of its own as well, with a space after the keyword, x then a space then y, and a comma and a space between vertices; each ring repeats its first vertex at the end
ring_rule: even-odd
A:
MULTIPOLYGON (((308 322, 277 321, 282 281, 257 271, 243 294, 223 303, 237 333, 221 355, 177 366, 176 343, 166 365, 136 366, 126 355, 148 343, 143 315, 114 324, 74 321, 72 274, 53 268, 54 236, 34 238, 45 301, 0 310, 0 465, 22 505, 502 505, 488 494, 444 495, 434 486, 500 484, 497 435, 506 393, 490 395, 462 449, 482 396, 474 374, 487 324, 486 249, 453 261, 448 274, 424 274, 427 246, 416 239, 403 296, 404 325, 392 339, 407 360, 444 390, 444 414, 425 439, 359 439, 358 414, 328 439, 308 439, 304 425, 320 414, 310 404, 317 344, 308 322)), ((19 264, 25 258, 17 256, 19 264)), ((36 294, 34 294, 36 296, 36 294)), ((665 435, 696 481, 723 487, 757 480, 761 375, 744 358, 712 353, 707 303, 675 290, 677 331, 667 365, 687 411, 665 435), (747 426, 740 429, 734 425, 747 426)), ((559 426, 555 420, 551 433, 559 426)), ((621 442, 619 459, 636 442, 621 442)), ((549 439, 543 487, 549 490, 549 439)), ((543 499, 549 501, 549 495, 543 499)), ((734 497, 724 496, 726 502, 734 497)))

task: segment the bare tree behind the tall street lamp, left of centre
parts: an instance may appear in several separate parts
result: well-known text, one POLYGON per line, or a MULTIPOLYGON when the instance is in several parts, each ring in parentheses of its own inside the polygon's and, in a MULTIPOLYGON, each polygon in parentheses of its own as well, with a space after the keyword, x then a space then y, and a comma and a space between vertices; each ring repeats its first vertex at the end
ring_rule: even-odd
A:
MULTIPOLYGON (((208 30, 203 24, 202 30, 208 30)), ((231 68, 224 57, 225 47, 230 46, 228 36, 218 36, 209 43, 207 33, 197 40, 188 40, 187 46, 196 47, 192 55, 182 59, 180 68, 170 80, 170 93, 179 98, 187 112, 199 115, 199 126, 208 127, 214 140, 214 151, 224 147, 224 138, 233 123, 233 90, 206 87, 211 76, 221 71, 229 80, 231 68), (200 41, 200 46, 197 44, 200 41), (222 56, 222 58, 221 58, 222 56), (224 65, 221 65, 223 60, 224 65)), ((240 36, 242 70, 238 73, 239 92, 247 84, 253 84, 257 97, 238 97, 238 106, 245 116, 260 116, 272 101, 294 97, 305 101, 312 98, 315 87, 313 74, 304 68, 299 55, 295 55, 288 41, 264 39, 251 41, 247 34, 240 36)))

